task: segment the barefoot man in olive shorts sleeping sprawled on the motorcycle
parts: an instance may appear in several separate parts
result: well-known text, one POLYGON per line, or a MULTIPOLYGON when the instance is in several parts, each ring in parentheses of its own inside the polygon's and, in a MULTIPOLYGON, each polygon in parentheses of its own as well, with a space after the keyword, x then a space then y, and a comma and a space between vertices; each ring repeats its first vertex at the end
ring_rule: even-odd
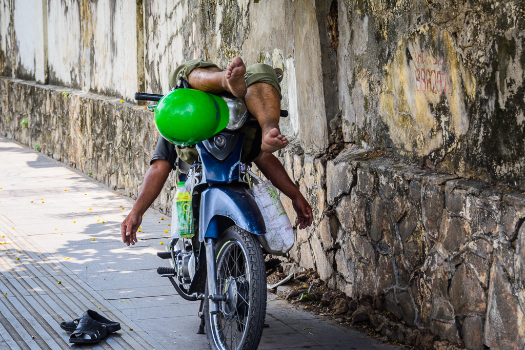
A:
MULTIPOLYGON (((209 93, 228 91, 243 99, 248 111, 255 116, 262 129, 260 153, 253 161, 275 187, 292 200, 297 213, 297 225, 304 229, 312 224, 312 209, 297 186, 272 152, 288 145, 288 140, 279 130, 281 89, 279 78, 274 68, 257 63, 246 68, 239 57, 235 57, 226 71, 202 59, 182 63, 170 76, 170 89, 179 79, 187 81, 193 89, 209 93)), ((247 130, 245 143, 246 154, 250 153, 255 131, 247 130), (247 146, 248 145, 248 146, 247 146)), ((195 149, 183 149, 167 142, 162 136, 155 148, 151 166, 144 176, 139 197, 130 214, 122 222, 122 241, 128 246, 137 242, 137 230, 142 222, 142 215, 160 194, 172 169, 176 169, 177 157, 188 164, 193 163, 195 149)), ((253 152, 252 152, 253 153, 253 152)))

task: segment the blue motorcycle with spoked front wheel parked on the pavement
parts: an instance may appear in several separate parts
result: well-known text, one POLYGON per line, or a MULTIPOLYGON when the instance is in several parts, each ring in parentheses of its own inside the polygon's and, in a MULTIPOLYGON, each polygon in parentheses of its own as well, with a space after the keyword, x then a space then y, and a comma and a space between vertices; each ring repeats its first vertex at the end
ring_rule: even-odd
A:
MULTIPOLYGON (((175 88, 188 85, 181 79, 175 88)), ((197 333, 205 328, 212 349, 255 350, 265 326, 267 269, 275 269, 280 261, 265 263, 267 252, 260 240, 266 233, 265 221, 248 192, 253 182, 261 180, 241 160, 244 134, 238 129, 247 123, 259 127, 258 122, 242 100, 226 92, 221 97, 228 104, 228 126, 196 144, 198 160, 186 174, 178 174, 192 195, 196 234, 172 237, 166 251, 157 253, 171 267, 159 267, 157 272, 171 281, 182 298, 201 302, 197 333)), ((136 100, 161 98, 135 93, 136 100)), ((281 110, 281 116, 287 115, 281 110)))

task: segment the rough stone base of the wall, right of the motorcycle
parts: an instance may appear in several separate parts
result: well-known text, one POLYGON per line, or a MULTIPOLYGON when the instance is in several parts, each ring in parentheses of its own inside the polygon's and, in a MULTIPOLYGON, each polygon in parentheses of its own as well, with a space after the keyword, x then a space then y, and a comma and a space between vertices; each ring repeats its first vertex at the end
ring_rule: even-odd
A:
POLYGON ((314 214, 286 272, 312 268, 355 299, 384 295, 408 325, 468 349, 523 348, 525 192, 381 152, 282 161, 314 214))

